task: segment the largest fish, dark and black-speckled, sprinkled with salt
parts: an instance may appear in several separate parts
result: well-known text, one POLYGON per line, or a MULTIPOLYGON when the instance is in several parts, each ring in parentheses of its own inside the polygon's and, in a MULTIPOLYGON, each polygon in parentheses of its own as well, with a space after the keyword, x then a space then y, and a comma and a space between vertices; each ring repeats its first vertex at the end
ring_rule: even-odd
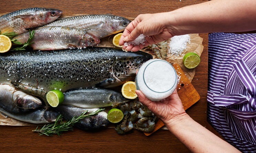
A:
POLYGON ((60 51, 9 51, 0 55, 0 82, 10 80, 66 91, 72 88, 110 88, 134 80, 136 69, 152 55, 116 48, 86 48, 60 51))

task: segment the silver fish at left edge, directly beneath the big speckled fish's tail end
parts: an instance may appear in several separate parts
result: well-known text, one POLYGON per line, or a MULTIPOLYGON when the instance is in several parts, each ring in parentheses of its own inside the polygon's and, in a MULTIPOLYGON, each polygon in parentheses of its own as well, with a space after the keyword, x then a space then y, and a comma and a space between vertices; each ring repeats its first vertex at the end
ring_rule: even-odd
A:
POLYGON ((27 113, 38 109, 42 102, 25 92, 9 85, 0 85, 0 107, 10 113, 27 113))

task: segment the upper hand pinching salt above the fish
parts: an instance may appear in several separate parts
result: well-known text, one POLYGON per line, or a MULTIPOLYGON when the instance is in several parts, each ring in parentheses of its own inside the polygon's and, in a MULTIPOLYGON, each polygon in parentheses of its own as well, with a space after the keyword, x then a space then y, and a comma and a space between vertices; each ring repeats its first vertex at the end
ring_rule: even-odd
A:
POLYGON ((149 36, 145 38, 145 44, 122 46, 126 51, 138 51, 149 44, 158 43, 173 37, 171 28, 167 26, 166 13, 138 15, 124 30, 119 45, 122 46, 125 42, 134 41, 140 34, 149 36))

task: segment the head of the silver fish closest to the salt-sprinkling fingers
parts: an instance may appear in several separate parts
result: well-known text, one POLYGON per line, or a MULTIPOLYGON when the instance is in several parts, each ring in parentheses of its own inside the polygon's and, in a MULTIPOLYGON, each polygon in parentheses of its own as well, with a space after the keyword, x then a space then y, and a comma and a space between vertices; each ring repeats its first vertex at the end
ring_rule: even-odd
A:
POLYGON ((128 20, 125 17, 113 16, 113 20, 106 24, 106 28, 111 34, 116 34, 121 31, 124 31, 130 22, 131 20, 128 20))

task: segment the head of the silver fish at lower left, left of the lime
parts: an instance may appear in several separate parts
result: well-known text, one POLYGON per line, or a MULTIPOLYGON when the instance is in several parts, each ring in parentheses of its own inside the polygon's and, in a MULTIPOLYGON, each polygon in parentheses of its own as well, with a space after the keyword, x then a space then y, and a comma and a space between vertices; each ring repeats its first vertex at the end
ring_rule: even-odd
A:
POLYGON ((18 97, 18 101, 19 103, 18 106, 22 107, 23 109, 37 109, 38 107, 40 107, 42 105, 41 100, 35 98, 32 95, 20 95, 18 97))

